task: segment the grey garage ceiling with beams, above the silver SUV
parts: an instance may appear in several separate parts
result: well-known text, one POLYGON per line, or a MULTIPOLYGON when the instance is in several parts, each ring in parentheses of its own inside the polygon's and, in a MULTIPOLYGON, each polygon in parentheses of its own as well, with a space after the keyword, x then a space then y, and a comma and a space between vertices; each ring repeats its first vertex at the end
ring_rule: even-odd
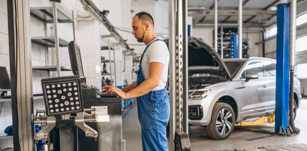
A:
MULTIPOLYGON (((266 21, 276 16, 276 6, 281 1, 243 0, 243 25, 264 27, 266 21)), ((214 23, 214 2, 215 0, 188 0, 188 16, 192 16, 193 25, 214 23)), ((218 22, 237 23, 237 9, 238 0, 218 0, 218 22)))

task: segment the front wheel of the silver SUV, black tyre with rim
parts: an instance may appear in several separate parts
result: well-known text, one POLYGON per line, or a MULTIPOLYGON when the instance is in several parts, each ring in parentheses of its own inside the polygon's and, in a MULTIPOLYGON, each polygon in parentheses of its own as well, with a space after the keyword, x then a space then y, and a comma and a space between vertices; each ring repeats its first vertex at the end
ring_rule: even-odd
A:
POLYGON ((212 110, 210 123, 204 127, 205 132, 212 139, 223 140, 230 136, 234 128, 235 112, 232 107, 227 103, 216 103, 212 110))

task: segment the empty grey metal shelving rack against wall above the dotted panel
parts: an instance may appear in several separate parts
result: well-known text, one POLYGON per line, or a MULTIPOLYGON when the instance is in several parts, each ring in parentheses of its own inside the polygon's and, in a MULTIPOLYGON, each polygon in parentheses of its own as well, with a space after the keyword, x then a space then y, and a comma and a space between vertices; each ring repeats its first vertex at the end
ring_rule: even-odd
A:
MULTIPOLYGON (((56 71, 57 76, 61 76, 61 71, 71 71, 71 68, 60 66, 60 47, 68 47, 68 41, 63 40, 58 37, 58 26, 57 23, 72 23, 73 26, 73 37, 75 40, 75 25, 72 11, 72 18, 64 14, 61 10, 57 9, 56 3, 52 3, 52 7, 31 7, 30 8, 31 17, 36 18, 37 20, 44 23, 44 37, 31 37, 31 42, 37 45, 45 47, 45 57, 46 65, 45 66, 33 66, 33 70, 42 70, 42 71, 56 71), (54 36, 47 36, 47 24, 54 24, 54 36), (49 65, 49 56, 48 48, 55 48, 56 52, 56 66, 49 65)), ((50 74, 48 72, 48 75, 50 74)))

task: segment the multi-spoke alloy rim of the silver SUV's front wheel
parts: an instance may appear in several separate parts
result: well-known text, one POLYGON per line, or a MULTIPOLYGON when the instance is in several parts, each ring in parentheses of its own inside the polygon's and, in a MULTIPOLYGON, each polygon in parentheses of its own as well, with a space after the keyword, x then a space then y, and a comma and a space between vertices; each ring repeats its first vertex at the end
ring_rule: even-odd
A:
POLYGON ((232 118, 233 116, 229 109, 223 108, 219 111, 216 117, 216 129, 220 135, 226 136, 231 132, 232 118))

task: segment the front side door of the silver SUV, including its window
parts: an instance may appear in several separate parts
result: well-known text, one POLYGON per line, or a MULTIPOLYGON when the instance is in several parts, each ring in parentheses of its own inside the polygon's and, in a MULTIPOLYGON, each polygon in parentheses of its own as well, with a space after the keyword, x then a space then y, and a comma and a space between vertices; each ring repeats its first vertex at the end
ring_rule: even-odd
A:
POLYGON ((269 92, 268 83, 264 77, 263 65, 261 60, 249 62, 243 70, 240 79, 245 80, 249 72, 259 75, 257 79, 250 79, 247 82, 241 81, 242 85, 242 109, 241 116, 246 118, 256 117, 267 111, 265 108, 269 92))

